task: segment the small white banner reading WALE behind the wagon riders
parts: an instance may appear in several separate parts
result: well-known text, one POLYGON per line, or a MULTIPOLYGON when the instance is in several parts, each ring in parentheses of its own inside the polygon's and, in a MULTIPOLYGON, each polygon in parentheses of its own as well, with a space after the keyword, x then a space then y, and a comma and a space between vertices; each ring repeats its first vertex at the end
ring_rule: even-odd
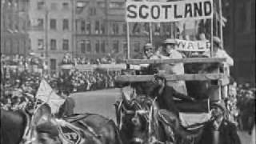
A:
POLYGON ((178 45, 179 51, 209 51, 210 41, 186 41, 175 39, 178 45))

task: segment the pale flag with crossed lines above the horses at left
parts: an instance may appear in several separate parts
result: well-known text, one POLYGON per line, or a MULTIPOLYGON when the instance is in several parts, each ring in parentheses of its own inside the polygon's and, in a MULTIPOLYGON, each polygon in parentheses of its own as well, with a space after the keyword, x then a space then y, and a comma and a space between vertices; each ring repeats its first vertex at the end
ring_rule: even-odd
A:
POLYGON ((65 99, 58 96, 44 79, 40 83, 36 98, 49 104, 53 114, 56 114, 60 106, 65 102, 65 99))

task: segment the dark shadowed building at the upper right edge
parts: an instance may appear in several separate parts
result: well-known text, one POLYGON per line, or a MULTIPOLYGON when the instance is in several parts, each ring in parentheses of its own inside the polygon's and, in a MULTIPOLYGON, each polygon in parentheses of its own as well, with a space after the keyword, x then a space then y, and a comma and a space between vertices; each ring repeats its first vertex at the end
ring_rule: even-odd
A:
POLYGON ((227 0, 223 14, 225 49, 234 58, 231 73, 238 82, 255 84, 255 1, 227 0))

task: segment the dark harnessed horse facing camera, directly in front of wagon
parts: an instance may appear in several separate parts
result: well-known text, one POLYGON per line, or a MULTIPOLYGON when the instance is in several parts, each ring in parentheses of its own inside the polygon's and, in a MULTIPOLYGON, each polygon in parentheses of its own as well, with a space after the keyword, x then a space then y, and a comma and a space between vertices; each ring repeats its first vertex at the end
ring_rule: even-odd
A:
POLYGON ((186 129, 177 114, 159 110, 154 99, 147 96, 127 98, 123 95, 116 106, 123 142, 127 144, 191 144, 198 142, 202 134, 202 126, 194 130, 186 129))

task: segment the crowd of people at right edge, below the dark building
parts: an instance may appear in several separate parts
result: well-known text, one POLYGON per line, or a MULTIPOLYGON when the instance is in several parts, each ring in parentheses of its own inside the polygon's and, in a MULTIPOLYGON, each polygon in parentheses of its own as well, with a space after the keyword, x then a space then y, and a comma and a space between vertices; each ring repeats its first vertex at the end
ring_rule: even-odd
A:
POLYGON ((230 83, 226 98, 227 116, 239 130, 248 130, 254 125, 256 88, 250 83, 230 83))

